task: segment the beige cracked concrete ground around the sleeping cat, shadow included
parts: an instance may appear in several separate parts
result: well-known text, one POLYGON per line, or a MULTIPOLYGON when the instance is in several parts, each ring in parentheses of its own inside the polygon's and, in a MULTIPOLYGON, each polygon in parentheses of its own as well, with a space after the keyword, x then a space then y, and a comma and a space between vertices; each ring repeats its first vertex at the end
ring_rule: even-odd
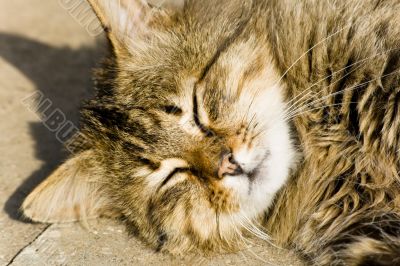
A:
POLYGON ((94 221, 87 230, 20 219, 23 198, 67 154, 23 99, 40 92, 76 124, 80 101, 91 95, 104 37, 93 36, 97 29, 81 6, 73 9, 80 1, 0 0, 0 265, 302 265, 260 240, 238 254, 172 258, 114 221, 94 221))

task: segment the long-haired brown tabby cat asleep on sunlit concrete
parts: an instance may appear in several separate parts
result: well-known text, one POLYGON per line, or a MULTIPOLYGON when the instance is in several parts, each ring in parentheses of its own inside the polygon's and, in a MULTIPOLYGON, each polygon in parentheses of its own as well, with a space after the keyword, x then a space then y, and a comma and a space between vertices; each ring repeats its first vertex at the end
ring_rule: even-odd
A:
POLYGON ((400 264, 400 1, 89 2, 110 56, 27 217, 172 253, 263 223, 315 265, 400 264))

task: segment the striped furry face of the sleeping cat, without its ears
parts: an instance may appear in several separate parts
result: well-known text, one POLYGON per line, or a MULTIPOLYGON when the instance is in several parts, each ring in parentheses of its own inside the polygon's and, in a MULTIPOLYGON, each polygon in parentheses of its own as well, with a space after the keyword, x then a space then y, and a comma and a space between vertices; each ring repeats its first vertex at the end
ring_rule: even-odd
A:
POLYGON ((83 112, 82 133, 106 157, 115 208, 138 235, 173 252, 235 248, 242 224, 263 215, 294 163, 284 89, 265 38, 247 29, 251 5, 212 6, 199 13, 202 4, 190 3, 168 18, 168 31, 158 21, 146 44, 119 49, 116 86, 101 88, 83 112), (217 178, 228 150, 254 177, 217 178))

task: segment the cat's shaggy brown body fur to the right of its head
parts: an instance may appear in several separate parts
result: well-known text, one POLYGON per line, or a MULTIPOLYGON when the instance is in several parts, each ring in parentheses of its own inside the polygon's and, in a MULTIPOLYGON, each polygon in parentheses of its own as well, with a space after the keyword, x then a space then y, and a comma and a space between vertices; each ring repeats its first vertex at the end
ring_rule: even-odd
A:
POLYGON ((305 160, 268 228, 317 265, 400 264, 400 1, 275 4, 281 72, 313 49, 285 78, 305 160))

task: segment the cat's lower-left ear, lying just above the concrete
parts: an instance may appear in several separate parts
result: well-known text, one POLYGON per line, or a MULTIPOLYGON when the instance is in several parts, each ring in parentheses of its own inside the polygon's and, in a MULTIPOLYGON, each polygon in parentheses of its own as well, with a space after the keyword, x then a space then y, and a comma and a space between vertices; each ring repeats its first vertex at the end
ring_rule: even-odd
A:
POLYGON ((101 170, 90 150, 75 155, 56 169, 22 204, 35 222, 64 223, 109 215, 101 193, 101 170))

